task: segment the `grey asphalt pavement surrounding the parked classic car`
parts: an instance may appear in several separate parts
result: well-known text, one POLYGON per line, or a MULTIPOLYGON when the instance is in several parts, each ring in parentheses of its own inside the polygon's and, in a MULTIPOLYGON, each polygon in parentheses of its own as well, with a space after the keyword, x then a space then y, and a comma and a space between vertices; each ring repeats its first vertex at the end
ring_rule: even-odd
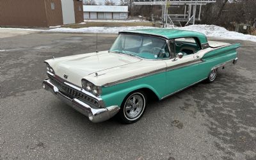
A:
MULTIPOLYGON (((98 35, 108 50, 116 35, 98 35)), ((96 36, 0 33, 0 159, 256 159, 256 43, 236 66, 148 104, 140 121, 93 124, 42 89, 44 60, 95 51, 96 36), (9 35, 6 35, 9 34, 9 35)))

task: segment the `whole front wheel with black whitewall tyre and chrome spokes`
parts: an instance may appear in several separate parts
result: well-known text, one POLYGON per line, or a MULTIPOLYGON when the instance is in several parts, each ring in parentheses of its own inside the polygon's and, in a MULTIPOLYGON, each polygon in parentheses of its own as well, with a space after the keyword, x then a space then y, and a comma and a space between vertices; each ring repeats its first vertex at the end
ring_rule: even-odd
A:
POLYGON ((118 118, 124 124, 131 124, 138 121, 145 111, 147 97, 144 92, 138 91, 125 97, 118 118))

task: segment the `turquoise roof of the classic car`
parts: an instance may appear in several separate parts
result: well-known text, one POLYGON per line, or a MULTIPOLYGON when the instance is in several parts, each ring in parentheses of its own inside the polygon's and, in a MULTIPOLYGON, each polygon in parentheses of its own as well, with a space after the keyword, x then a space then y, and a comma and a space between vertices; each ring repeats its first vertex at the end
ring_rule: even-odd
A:
POLYGON ((180 29, 136 29, 132 31, 121 31, 119 33, 136 33, 143 35, 161 36, 166 39, 183 38, 183 37, 197 37, 201 44, 207 43, 207 38, 203 33, 195 31, 185 31, 180 29))

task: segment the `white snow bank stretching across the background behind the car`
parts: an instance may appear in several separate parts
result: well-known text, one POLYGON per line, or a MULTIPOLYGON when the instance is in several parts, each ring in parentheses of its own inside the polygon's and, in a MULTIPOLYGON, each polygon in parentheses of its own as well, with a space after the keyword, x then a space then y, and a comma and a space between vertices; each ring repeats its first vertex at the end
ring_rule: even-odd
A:
MULTIPOLYGON (((150 29, 154 27, 147 27, 147 26, 127 26, 127 27, 89 27, 89 28, 51 28, 47 30, 42 29, 23 29, 28 31, 53 31, 53 32, 73 32, 73 33, 118 33, 119 31, 127 31, 127 30, 134 30, 134 29, 150 29)), ((5 29, 5 28, 0 28, 5 29)), ((8 28, 10 29, 10 28, 8 28)), ((17 28, 13 28, 17 29, 17 28)), ((214 25, 191 25, 181 28, 175 29, 184 29, 189 31, 198 31, 200 33, 204 33, 206 36, 211 36, 214 38, 225 38, 225 39, 232 39, 232 40, 250 40, 252 42, 256 42, 256 36, 253 35, 244 35, 243 33, 237 33, 234 31, 228 31, 225 28, 220 26, 214 25)))

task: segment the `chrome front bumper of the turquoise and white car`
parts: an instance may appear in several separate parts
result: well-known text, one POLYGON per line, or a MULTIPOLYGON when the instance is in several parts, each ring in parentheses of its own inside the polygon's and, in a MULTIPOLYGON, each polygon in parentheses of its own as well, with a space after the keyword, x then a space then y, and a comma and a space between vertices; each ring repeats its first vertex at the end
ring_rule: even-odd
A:
POLYGON ((60 92, 58 87, 52 84, 49 79, 45 79, 42 86, 45 90, 49 90, 59 99, 64 100, 72 108, 76 109, 83 115, 88 116, 89 120, 94 123, 108 120, 112 116, 116 115, 120 109, 118 106, 109 106, 108 108, 93 108, 82 100, 70 99, 70 97, 60 92))

